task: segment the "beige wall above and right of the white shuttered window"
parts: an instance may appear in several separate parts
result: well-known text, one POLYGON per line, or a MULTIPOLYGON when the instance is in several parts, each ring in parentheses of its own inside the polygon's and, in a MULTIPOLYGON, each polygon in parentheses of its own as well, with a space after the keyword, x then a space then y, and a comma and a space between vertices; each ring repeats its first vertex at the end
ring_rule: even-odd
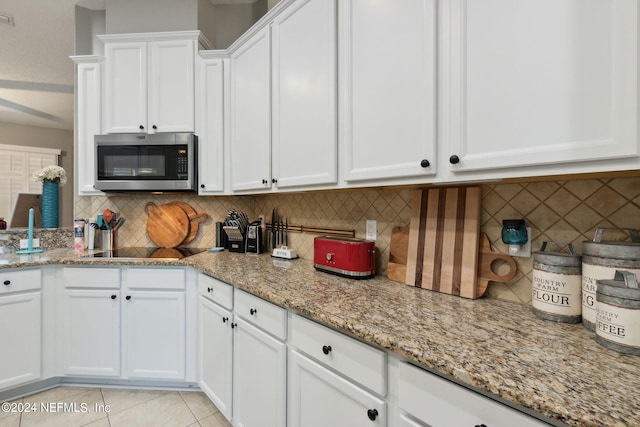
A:
POLYGON ((0 122, 0 144, 62 150, 58 164, 67 173, 60 187, 60 227, 73 226, 73 131, 0 122))

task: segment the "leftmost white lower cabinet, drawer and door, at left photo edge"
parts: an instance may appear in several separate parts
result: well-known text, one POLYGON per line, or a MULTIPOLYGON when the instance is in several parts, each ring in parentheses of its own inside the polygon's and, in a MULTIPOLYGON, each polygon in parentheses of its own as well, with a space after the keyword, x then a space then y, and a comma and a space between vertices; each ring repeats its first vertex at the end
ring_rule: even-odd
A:
POLYGON ((0 273, 0 390, 42 375, 41 271, 0 273))

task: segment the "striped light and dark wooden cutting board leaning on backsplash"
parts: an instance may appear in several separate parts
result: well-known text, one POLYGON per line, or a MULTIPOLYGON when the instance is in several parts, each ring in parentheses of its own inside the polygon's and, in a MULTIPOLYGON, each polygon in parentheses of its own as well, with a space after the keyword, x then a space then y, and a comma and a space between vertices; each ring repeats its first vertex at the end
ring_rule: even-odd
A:
POLYGON ((415 190, 405 283, 476 297, 480 187, 415 190))

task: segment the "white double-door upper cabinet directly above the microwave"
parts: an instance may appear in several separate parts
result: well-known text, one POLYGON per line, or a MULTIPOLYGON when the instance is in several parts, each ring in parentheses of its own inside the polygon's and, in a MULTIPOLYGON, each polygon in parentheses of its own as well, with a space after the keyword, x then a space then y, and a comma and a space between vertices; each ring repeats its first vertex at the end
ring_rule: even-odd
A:
POLYGON ((199 32, 100 36, 106 133, 193 132, 199 32), (132 38, 148 39, 132 41, 132 38))

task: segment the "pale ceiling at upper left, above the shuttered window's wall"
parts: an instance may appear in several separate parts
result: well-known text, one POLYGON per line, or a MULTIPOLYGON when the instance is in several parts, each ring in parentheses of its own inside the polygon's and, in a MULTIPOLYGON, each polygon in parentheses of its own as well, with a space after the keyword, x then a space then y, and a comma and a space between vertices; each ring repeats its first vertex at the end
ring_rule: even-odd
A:
MULTIPOLYGON (((255 0, 211 0, 214 5, 255 0)), ((0 0, 0 122, 73 130, 75 5, 104 0, 0 0)), ((102 6, 104 7, 104 6, 102 6)))

